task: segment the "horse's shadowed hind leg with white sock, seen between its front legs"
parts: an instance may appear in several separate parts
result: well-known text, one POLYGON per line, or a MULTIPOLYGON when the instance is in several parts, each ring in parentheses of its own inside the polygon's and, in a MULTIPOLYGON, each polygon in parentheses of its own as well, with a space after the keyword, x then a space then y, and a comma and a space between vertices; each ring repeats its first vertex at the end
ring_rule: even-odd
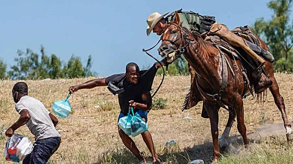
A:
POLYGON ((228 118, 228 122, 227 122, 227 125, 226 125, 226 128, 224 130, 224 132, 222 133, 222 140, 220 141, 220 149, 221 150, 225 150, 228 148, 228 138, 229 138, 229 135, 230 135, 230 130, 231 130, 231 127, 232 127, 232 124, 233 124, 233 119, 235 119, 235 116, 236 116, 236 113, 235 113, 235 110, 233 110, 231 107, 229 107, 229 118, 228 118))

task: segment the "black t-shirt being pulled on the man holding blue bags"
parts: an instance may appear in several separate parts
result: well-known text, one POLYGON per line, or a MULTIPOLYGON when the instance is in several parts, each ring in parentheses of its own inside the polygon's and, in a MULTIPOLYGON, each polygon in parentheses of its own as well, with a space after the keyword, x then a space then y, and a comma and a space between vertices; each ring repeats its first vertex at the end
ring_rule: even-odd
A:
POLYGON ((119 89, 124 88, 124 91, 118 94, 118 101, 121 113, 128 114, 130 100, 133 100, 137 103, 144 103, 141 96, 142 94, 152 90, 152 85, 156 73, 157 68, 155 68, 154 66, 151 67, 149 70, 141 70, 141 76, 137 84, 129 82, 126 78, 125 73, 114 74, 105 79, 105 83, 107 85, 109 84, 109 82, 112 82, 119 89))

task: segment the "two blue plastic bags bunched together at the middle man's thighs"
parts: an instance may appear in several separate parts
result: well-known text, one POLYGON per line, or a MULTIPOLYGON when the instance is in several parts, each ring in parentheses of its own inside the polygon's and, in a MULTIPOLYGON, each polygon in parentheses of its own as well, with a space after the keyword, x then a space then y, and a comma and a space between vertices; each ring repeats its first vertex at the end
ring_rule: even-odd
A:
POLYGON ((129 109, 127 116, 120 118, 118 126, 125 134, 132 135, 132 137, 148 130, 147 123, 143 121, 138 113, 134 114, 133 108, 129 109))

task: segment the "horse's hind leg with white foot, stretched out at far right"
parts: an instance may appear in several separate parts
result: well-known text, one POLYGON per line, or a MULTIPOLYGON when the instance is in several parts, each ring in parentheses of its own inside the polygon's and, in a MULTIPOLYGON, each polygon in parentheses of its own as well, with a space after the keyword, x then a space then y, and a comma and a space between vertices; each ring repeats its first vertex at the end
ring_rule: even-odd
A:
POLYGON ((285 111, 284 98, 280 94, 279 86, 278 86, 277 81, 276 81, 275 77, 273 76, 273 74, 269 78, 273 81, 273 85, 271 87, 269 87, 269 90, 271 91, 271 93, 274 97, 275 104, 277 105, 277 107, 281 111, 282 118, 284 121, 284 126, 286 128, 287 141, 291 141, 293 139, 293 132, 291 129, 291 124, 288 121, 287 114, 285 111))

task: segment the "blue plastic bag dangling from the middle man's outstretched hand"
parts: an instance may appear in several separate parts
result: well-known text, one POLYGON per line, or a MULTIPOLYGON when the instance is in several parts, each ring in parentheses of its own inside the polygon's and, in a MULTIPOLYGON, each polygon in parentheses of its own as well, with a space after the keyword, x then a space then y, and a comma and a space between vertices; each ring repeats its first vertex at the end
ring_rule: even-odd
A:
POLYGON ((71 113, 71 105, 69 101, 67 100, 70 97, 70 95, 71 95, 71 92, 69 92, 65 100, 56 101, 52 105, 53 112, 61 118, 66 118, 71 113))

